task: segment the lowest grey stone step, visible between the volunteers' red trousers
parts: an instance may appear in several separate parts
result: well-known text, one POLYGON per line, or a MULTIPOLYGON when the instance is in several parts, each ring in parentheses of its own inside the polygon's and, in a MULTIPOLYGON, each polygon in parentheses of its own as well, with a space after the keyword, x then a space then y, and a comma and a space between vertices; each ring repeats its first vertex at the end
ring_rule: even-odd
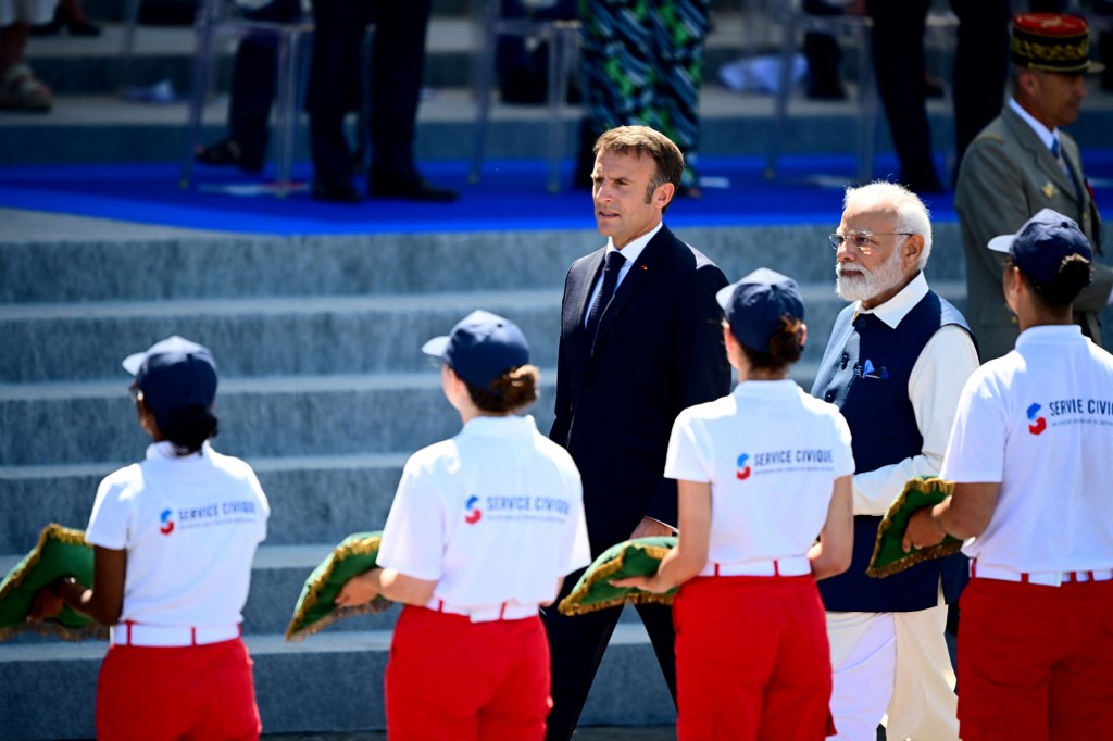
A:
MULTIPOLYGON (((385 728, 382 676, 390 633, 335 632, 287 643, 249 635, 266 733, 385 728)), ((95 735, 97 672, 104 642, 0 644, 0 714, 6 739, 46 741, 95 735), (62 709, 60 712, 59 709, 62 709)), ((615 630, 581 717, 582 725, 664 724, 676 720, 652 648, 639 623, 615 630)))

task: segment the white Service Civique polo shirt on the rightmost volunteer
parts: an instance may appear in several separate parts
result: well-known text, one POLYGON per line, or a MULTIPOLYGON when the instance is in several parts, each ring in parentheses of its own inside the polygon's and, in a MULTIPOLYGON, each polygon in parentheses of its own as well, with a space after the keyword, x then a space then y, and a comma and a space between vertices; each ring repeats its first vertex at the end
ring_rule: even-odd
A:
POLYGON ((958 403, 943 478, 999 482, 963 546, 1018 572, 1113 567, 1113 355, 1077 326, 1024 330, 958 403))

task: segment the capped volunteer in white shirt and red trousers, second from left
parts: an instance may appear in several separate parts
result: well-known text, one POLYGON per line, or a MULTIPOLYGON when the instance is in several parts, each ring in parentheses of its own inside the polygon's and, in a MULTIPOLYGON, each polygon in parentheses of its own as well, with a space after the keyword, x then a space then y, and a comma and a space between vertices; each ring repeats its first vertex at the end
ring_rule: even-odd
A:
POLYGON ((422 349, 441 358, 464 427, 406 462, 378 566, 336 603, 405 604, 386 666, 392 741, 540 741, 551 700, 538 610, 591 562, 580 474, 533 417, 512 414, 538 397, 512 322, 473 312, 422 349))

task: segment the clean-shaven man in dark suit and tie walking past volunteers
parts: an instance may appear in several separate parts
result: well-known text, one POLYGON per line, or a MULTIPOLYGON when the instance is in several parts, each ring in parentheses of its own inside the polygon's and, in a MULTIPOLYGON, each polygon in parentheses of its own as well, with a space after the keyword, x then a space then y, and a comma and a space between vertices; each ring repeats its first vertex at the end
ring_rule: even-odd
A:
MULTIPOLYGON (((595 223, 608 244, 573 263, 564 284, 549 436, 580 468, 597 556, 631 537, 672 533, 677 487, 663 477, 672 422, 681 409, 729 393, 730 368, 715 300, 727 278, 662 224, 683 172, 680 150, 653 129, 627 126, 601 136, 594 151, 595 223)), ((578 579, 564 580, 560 599, 578 579)), ((674 696, 670 611, 638 611, 674 696)), ((572 735, 620 613, 545 611, 549 739, 572 735)))

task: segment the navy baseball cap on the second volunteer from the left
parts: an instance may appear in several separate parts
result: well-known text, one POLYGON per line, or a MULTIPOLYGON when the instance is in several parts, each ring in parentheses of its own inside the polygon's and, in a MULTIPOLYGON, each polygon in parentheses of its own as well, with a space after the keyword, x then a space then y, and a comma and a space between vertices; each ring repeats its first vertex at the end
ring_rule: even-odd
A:
POLYGON ((433 337, 421 349, 487 391, 499 376, 530 362, 530 346, 518 325, 482 309, 461 319, 451 335, 433 337))

